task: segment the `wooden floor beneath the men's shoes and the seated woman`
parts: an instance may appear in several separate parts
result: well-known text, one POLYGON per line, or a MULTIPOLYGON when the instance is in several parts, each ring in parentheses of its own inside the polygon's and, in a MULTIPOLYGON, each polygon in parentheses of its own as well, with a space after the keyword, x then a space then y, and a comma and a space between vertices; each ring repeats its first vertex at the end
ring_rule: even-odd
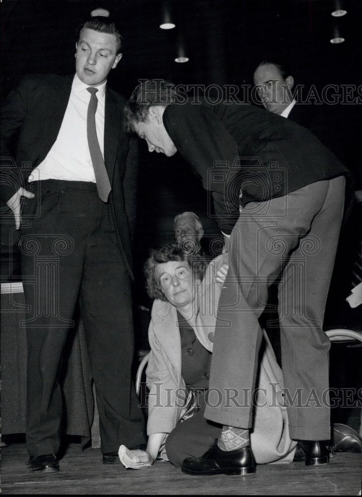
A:
POLYGON ((190 477, 170 463, 156 462, 145 470, 106 466, 100 449, 81 451, 71 443, 51 475, 30 473, 25 443, 1 449, 2 494, 50 495, 358 495, 361 454, 337 453, 328 466, 304 463, 260 465, 255 475, 190 477))

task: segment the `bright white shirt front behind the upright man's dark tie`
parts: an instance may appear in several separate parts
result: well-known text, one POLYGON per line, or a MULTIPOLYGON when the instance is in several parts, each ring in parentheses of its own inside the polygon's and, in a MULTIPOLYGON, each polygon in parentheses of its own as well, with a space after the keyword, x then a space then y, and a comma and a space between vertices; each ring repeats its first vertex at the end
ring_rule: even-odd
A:
MULTIPOLYGON (((48 155, 30 174, 29 181, 64 179, 95 183, 94 169, 87 141, 88 85, 74 76, 67 110, 57 140, 48 155)), ((104 103, 106 82, 97 86, 95 125, 99 147, 104 157, 104 103)))

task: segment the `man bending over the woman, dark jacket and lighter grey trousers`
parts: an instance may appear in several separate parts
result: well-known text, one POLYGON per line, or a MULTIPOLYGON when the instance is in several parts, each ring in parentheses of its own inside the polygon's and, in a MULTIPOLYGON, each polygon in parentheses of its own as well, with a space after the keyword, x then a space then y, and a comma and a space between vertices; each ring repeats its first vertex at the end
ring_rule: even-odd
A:
POLYGON ((262 338, 258 319, 268 286, 280 274, 290 437, 300 441, 307 465, 327 464, 330 341, 322 324, 349 173, 308 130, 287 119, 252 105, 199 103, 177 103, 171 83, 149 80, 126 107, 129 128, 150 152, 170 157, 178 151, 191 165, 213 195, 221 230, 231 233, 205 411, 223 425, 222 433, 182 470, 255 472, 249 429, 262 338))

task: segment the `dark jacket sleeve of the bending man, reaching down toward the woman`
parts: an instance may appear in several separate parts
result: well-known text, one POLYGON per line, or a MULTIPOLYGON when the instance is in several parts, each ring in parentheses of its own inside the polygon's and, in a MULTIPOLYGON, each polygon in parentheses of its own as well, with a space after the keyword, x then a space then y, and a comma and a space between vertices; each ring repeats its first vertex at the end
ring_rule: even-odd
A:
POLYGON ((227 176, 239 157, 238 146, 211 108, 204 105, 169 105, 163 122, 177 150, 201 177, 213 196, 220 228, 230 233, 238 218, 238 195, 229 195, 227 176))

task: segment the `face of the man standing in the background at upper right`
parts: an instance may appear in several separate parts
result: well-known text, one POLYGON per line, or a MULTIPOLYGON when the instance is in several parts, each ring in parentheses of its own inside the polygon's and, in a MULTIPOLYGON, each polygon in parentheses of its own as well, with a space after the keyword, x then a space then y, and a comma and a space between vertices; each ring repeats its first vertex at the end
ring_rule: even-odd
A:
POLYGON ((263 105, 270 112, 281 114, 290 104, 290 89, 293 79, 284 80, 274 64, 259 66, 254 73, 254 84, 263 105))

